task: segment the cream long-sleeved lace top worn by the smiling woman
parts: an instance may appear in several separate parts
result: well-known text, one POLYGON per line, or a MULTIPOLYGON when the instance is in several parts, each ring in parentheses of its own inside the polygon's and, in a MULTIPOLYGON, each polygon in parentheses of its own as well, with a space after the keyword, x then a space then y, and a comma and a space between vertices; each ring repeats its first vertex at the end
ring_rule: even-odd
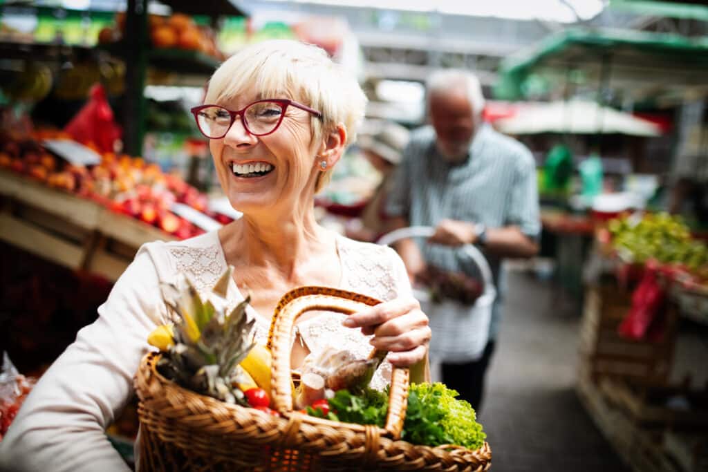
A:
MULTIPOLYGON (((381 300, 411 294, 403 262, 392 249, 343 236, 337 246, 343 267, 338 288, 381 300)), ((133 375, 152 350, 147 335, 166 319, 159 283, 184 273, 208 292, 226 267, 216 232, 140 248, 99 307, 98 319, 79 331, 25 400, 0 442, 0 471, 128 471, 104 430, 133 394, 133 375)), ((243 299, 233 280, 229 297, 234 305, 243 299)), ((259 320, 257 338, 265 343, 268 322, 252 309, 249 315, 259 320)), ((323 313, 297 323, 297 329, 312 352, 334 344, 366 357, 367 338, 342 326, 343 316, 323 313)), ((389 373, 384 362, 372 385, 384 386, 389 373)))

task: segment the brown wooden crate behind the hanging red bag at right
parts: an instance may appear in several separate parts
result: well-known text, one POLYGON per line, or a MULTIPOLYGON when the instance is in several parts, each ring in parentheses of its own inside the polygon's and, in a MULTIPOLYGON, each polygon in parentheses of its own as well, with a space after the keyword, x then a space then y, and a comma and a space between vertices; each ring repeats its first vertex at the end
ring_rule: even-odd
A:
POLYGON ((668 379, 675 344, 676 310, 667 305, 666 333, 658 342, 630 340, 617 333, 631 307, 631 294, 610 284, 587 287, 580 333, 582 369, 593 381, 603 376, 661 385, 668 379))

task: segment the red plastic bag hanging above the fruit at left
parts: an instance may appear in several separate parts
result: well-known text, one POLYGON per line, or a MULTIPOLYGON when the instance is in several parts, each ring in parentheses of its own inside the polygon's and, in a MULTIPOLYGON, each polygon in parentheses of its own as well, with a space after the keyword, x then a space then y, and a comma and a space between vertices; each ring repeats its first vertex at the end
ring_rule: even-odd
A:
POLYGON ((120 139, 122 130, 113 120, 113 110, 110 109, 101 84, 91 87, 89 101, 64 127, 64 131, 78 142, 93 142, 98 151, 114 151, 113 146, 115 141, 120 139))

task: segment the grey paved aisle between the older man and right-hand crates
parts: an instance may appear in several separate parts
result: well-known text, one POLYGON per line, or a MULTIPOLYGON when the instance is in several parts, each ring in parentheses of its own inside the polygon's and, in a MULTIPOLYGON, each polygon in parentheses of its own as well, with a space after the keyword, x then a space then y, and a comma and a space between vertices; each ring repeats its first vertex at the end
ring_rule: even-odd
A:
POLYGON ((575 392, 579 308, 548 281, 510 271, 479 420, 494 472, 624 472, 575 392))

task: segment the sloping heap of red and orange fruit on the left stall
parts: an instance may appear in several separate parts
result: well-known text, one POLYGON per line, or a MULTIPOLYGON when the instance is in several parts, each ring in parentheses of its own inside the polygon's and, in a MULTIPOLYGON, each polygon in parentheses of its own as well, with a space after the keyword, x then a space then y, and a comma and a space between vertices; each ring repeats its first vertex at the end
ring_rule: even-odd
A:
MULTIPOLYGON (((155 164, 125 154, 104 153, 98 165, 80 166, 50 154, 40 144, 44 139, 68 139, 68 136, 49 130, 21 139, 0 136, 0 168, 89 198, 181 239, 204 231, 171 212, 174 202, 188 205, 222 224, 232 221, 209 212, 205 194, 185 183, 179 175, 163 173, 155 164)), ((88 146, 92 147, 91 143, 88 146)))

